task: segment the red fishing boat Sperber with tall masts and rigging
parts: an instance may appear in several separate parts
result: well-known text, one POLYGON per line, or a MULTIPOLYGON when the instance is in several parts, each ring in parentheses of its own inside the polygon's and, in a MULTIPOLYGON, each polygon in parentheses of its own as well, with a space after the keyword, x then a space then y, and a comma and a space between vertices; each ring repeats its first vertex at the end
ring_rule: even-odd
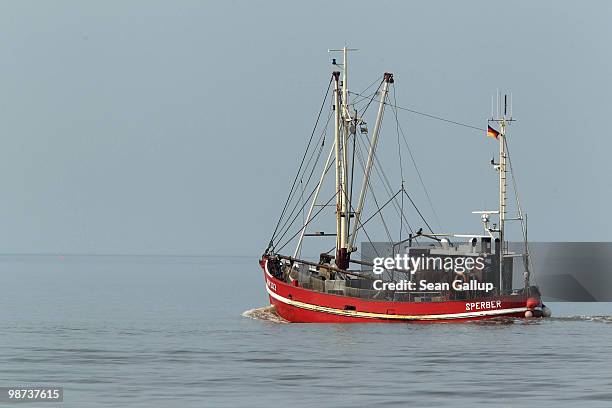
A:
MULTIPOLYGON (((341 53, 342 62, 332 60, 335 70, 314 129, 259 262, 276 313, 289 322, 301 323, 462 322, 550 316, 538 287, 531 284, 527 217, 518 199, 507 143, 508 126, 513 121, 508 97, 501 98, 498 93, 497 112, 482 129, 499 146, 497 160, 490 163, 498 173, 499 207, 474 211, 482 223, 477 234, 436 232, 405 187, 402 159, 410 157, 421 183, 422 177, 412 152, 406 155, 401 149, 400 134, 408 149, 409 144, 398 121, 398 110, 405 108, 396 102, 393 74, 384 73, 362 92, 350 91, 348 53, 354 50, 329 51, 341 53), (329 111, 324 114, 326 107, 329 111), (376 117, 370 132, 365 118, 371 107, 376 108, 376 117), (396 120, 390 129, 396 130, 400 146, 399 155, 393 158, 400 162, 397 183, 389 180, 377 151, 383 116, 389 109, 396 120), (328 132, 330 129, 333 132, 328 132), (332 133, 333 139, 328 141, 332 133), (321 174, 316 177, 318 168, 321 174), (508 174, 512 175, 516 204, 512 215, 507 206, 508 174), (386 199, 380 198, 381 190, 386 199), (397 216, 394 224, 385 218, 389 212, 397 216), (520 252, 511 250, 506 237, 510 221, 520 223, 520 252), (418 229, 417 223, 421 224, 418 229), (333 228, 316 230, 325 225, 333 228), (377 231, 384 231, 386 240, 375 241, 377 231), (310 256, 304 250, 306 240, 315 251, 311 249, 310 256), (290 245, 295 246, 292 253, 287 252, 290 245), (515 265, 515 259, 522 262, 515 265), (522 267, 522 277, 516 279, 518 288, 513 287, 515 267, 522 267)), ((424 184, 423 188, 429 199, 424 184)), ((274 201, 270 193, 266 199, 274 201)), ((433 209, 431 200, 429 203, 433 209)))

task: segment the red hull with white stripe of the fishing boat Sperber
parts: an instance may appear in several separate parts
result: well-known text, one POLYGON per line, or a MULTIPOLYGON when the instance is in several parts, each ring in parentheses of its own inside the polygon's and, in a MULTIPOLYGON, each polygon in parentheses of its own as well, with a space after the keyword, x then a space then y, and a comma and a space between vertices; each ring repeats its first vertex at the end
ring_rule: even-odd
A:
MULTIPOLYGON (((276 279, 261 266, 270 304, 284 319, 295 323, 398 323, 398 322, 464 322, 500 317, 524 317, 525 295, 487 297, 480 300, 445 302, 390 302, 366 300, 321 293, 292 286, 276 279)), ((541 305, 531 296, 530 304, 541 305)), ((535 309, 539 309, 536 307, 535 309)))

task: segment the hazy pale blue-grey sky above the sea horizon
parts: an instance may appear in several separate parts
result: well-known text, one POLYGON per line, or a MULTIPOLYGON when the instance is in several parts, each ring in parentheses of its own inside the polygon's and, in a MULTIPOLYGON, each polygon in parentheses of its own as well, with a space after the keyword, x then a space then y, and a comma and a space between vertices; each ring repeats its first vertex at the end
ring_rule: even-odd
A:
MULTIPOLYGON (((604 1, 1 1, 0 252, 260 253, 345 42, 355 89, 391 71, 402 106, 486 126, 512 91, 531 238, 609 241, 611 18, 604 1)), ((400 121, 443 228, 480 231, 495 142, 400 121)))

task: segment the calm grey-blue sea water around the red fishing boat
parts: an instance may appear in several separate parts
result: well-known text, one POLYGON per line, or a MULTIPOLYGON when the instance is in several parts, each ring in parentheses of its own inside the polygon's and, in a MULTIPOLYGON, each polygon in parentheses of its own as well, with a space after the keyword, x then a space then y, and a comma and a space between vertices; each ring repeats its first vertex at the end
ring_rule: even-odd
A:
POLYGON ((259 309, 256 258, 2 256, 0 276, 0 386, 64 387, 27 406, 612 406, 610 303, 305 325, 259 309))

